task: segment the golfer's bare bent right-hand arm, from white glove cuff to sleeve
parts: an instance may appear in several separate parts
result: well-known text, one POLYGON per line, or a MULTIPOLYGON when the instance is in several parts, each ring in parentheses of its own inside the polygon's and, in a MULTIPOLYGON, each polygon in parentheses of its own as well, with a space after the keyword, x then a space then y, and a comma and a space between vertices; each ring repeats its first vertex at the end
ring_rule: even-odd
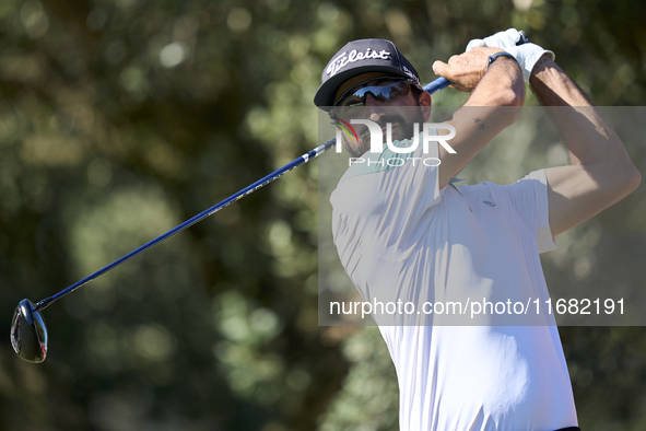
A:
POLYGON ((639 185, 642 175, 614 130, 583 91, 548 56, 529 80, 548 108, 569 153, 569 165, 545 170, 550 229, 555 236, 618 202, 639 185))

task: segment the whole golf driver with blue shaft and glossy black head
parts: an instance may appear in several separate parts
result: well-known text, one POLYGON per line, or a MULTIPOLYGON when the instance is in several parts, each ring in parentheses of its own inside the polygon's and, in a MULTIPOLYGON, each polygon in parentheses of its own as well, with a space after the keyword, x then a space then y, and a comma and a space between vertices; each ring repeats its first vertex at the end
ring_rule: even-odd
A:
MULTIPOLYGON (((521 38, 517 45, 527 43, 527 36, 525 33, 521 33, 521 38)), ((445 78, 438 78, 435 81, 431 82, 430 84, 425 85, 423 89, 428 93, 434 93, 438 90, 445 89, 451 83, 445 78)), ((73 292, 74 290, 81 288, 82 286, 86 284, 87 282, 94 280, 95 278, 99 277, 101 275, 109 271, 110 269, 121 265, 126 260, 137 256, 138 254, 144 252, 145 249, 152 247, 155 244, 161 243, 162 241, 175 235, 178 232, 184 231, 185 229, 191 226, 192 224, 208 218, 209 215, 214 214, 215 212, 220 211, 221 209, 230 206, 231 203, 237 201, 238 199, 244 198, 245 196, 256 191, 260 187, 268 185, 269 183, 280 178, 287 172, 301 166, 318 158, 324 152, 328 151, 332 147, 334 147, 336 139, 331 139, 326 143, 315 148, 314 150, 303 154, 298 159, 287 163, 283 167, 274 171, 273 173, 265 176, 263 178, 257 180, 256 183, 245 187, 244 189, 239 190, 238 193, 230 196, 228 198, 224 199, 220 203, 214 205, 213 207, 202 211, 201 213, 195 215, 193 218, 185 221, 184 223, 177 225, 176 228, 169 230, 168 232, 157 236, 156 238, 150 241, 149 243, 142 245, 141 247, 128 253, 127 255, 120 257, 119 259, 113 261, 111 264, 105 266, 104 268, 99 269, 98 271, 85 277, 84 279, 78 281, 77 283, 70 286, 69 288, 58 292, 57 294, 46 298, 38 303, 34 304, 32 301, 24 299, 22 300, 14 313, 13 318, 11 322, 11 346, 13 350, 17 353, 17 356, 25 361, 39 363, 45 360, 47 357, 47 341, 48 341, 48 334, 47 327, 45 325, 45 319, 40 312, 49 306, 52 302, 59 300, 60 298, 73 292)))

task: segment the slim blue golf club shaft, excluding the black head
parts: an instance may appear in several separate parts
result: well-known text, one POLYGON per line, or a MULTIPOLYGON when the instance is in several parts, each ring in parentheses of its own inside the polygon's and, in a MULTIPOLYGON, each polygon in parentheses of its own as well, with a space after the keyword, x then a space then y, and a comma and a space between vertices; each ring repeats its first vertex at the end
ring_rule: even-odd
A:
MULTIPOLYGON (((445 78, 438 78, 435 81, 431 82, 430 84, 424 86, 424 91, 427 91, 428 93, 434 93, 438 90, 445 89, 448 85, 450 85, 450 82, 445 79, 445 78)), ((243 188, 240 191, 236 193, 235 195, 230 196, 228 198, 224 199, 223 201, 221 201, 220 203, 214 205, 213 207, 207 209, 205 211, 200 212, 199 214, 197 214, 196 217, 193 217, 192 219, 189 219, 187 221, 185 221, 184 223, 179 224, 178 226, 169 230, 168 232, 157 236, 156 238, 152 240, 151 242, 142 245, 141 247, 128 253, 127 255, 120 257, 119 259, 113 261, 111 264, 107 265, 106 267, 99 269, 98 271, 85 277, 84 279, 75 282, 74 284, 70 286, 69 288, 61 290, 60 292, 58 292, 57 294, 46 298, 42 301, 39 301, 36 305, 34 311, 35 312, 39 312, 42 310, 45 310, 47 306, 49 306, 52 302, 59 300, 60 298, 73 292, 74 290, 81 288, 82 286, 89 283, 90 281, 94 280, 95 278, 97 278, 98 276, 109 271, 110 269, 121 265, 122 263, 125 263, 126 260, 129 260, 130 258, 137 256, 138 254, 144 252, 145 249, 152 247, 155 244, 161 243, 162 241, 175 235, 178 232, 184 231, 185 229, 193 225, 195 223, 202 221, 203 219, 208 218, 209 215, 214 214, 215 212, 220 211, 221 209, 230 206, 231 203, 235 202, 238 199, 244 198, 247 195, 250 195, 251 193, 256 191, 257 189, 259 189, 260 187, 263 187, 266 185, 268 185, 269 183, 280 178, 281 176, 283 176, 284 174, 286 174, 287 172, 301 166, 302 164, 305 164, 307 162, 309 162, 310 160, 314 160, 316 158, 318 158, 320 154, 322 154, 324 152, 328 151, 330 148, 334 147, 336 143, 336 139, 330 139, 329 141, 327 141, 326 143, 318 145, 317 148, 315 148, 314 150, 303 154, 302 156, 299 156, 298 159, 294 160, 293 162, 284 165, 283 167, 272 172, 271 174, 267 175, 266 177, 258 179, 256 183, 243 188)))

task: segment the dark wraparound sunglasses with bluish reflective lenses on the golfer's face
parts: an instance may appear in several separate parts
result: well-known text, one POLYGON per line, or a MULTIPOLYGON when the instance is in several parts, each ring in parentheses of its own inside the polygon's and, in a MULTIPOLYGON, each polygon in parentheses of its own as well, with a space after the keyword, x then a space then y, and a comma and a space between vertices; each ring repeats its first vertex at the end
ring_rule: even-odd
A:
POLYGON ((389 77, 372 79, 347 90, 330 109, 330 117, 343 118, 357 114, 365 106, 365 98, 368 94, 379 102, 389 102, 395 97, 406 96, 410 93, 410 86, 422 86, 414 80, 395 80, 389 77), (379 82, 383 81, 383 82, 379 82))

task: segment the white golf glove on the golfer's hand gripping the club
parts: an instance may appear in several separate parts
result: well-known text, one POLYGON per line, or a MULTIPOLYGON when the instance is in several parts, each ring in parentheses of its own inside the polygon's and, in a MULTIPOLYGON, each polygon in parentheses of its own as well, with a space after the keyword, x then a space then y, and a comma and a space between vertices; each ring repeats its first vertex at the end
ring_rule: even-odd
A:
POLYGON ((498 32, 493 36, 485 37, 484 39, 472 39, 467 45, 466 51, 480 46, 503 48, 513 55, 516 61, 518 61, 518 65, 520 65, 520 68, 522 69, 525 81, 529 82, 531 70, 543 54, 548 54, 552 60, 556 56, 554 56, 554 53, 551 50, 543 49, 531 43, 516 46, 518 40, 520 40, 520 33, 516 28, 509 28, 504 32, 498 32))

